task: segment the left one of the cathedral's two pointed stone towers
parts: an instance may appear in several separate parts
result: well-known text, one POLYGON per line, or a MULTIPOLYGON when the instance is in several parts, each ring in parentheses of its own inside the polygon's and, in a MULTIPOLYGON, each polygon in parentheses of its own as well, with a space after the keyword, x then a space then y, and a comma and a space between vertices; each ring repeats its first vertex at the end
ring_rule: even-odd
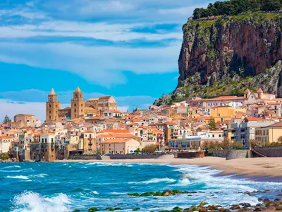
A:
POLYGON ((56 122, 60 109, 61 102, 58 102, 58 95, 52 88, 51 93, 48 95, 48 102, 46 102, 46 122, 56 122))

